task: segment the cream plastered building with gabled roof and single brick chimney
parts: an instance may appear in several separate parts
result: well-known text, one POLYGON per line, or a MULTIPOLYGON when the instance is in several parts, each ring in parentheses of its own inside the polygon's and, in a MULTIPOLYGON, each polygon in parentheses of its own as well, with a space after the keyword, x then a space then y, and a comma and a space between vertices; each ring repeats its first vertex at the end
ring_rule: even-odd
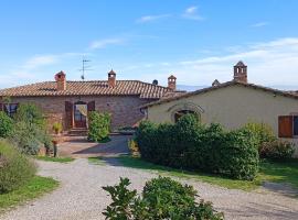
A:
MULTIPOLYGON (((196 114, 203 123, 219 122, 237 129, 247 122, 269 124, 275 134, 298 144, 298 94, 247 82, 247 66, 238 62, 234 78, 178 97, 141 107, 152 122, 174 123, 185 113, 196 114)), ((298 147, 296 151, 298 155, 298 147)))

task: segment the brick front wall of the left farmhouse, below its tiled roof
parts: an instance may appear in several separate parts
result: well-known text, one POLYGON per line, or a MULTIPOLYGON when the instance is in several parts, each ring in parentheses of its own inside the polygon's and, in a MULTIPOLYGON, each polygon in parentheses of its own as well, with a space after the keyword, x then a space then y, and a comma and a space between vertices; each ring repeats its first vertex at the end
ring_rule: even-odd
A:
POLYGON ((49 125, 52 127, 54 122, 62 122, 66 125, 65 119, 65 101, 95 101, 95 109, 99 112, 111 113, 111 129, 119 127, 134 125, 140 121, 145 116, 138 109, 139 106, 152 100, 140 99, 137 96, 86 96, 86 97, 20 97, 11 98, 12 102, 25 103, 33 102, 40 106, 45 113, 49 125))

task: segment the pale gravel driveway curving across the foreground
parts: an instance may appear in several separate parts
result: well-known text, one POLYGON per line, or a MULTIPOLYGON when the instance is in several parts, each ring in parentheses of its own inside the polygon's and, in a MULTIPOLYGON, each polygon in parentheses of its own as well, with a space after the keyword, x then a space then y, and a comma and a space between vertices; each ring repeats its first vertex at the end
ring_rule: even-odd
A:
MULTIPOLYGON (((110 202, 102 186, 129 177, 131 187, 140 190, 146 180, 157 175, 150 172, 119 166, 93 165, 85 158, 70 164, 39 162, 40 175, 61 182, 61 187, 36 201, 29 202, 1 216, 1 220, 93 220, 104 219, 102 211, 110 202)), ((224 211, 226 219, 298 219, 298 199, 275 194, 231 190, 194 180, 201 197, 224 211)))

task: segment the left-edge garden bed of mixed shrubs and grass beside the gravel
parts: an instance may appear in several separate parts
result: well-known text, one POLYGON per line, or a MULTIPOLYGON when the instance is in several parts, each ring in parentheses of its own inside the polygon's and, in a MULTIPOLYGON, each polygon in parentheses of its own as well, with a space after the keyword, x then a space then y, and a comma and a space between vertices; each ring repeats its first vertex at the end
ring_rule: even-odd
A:
POLYGON ((0 211, 39 197, 58 186, 52 178, 36 176, 32 155, 49 151, 52 139, 41 110, 20 105, 10 118, 0 111, 0 211))

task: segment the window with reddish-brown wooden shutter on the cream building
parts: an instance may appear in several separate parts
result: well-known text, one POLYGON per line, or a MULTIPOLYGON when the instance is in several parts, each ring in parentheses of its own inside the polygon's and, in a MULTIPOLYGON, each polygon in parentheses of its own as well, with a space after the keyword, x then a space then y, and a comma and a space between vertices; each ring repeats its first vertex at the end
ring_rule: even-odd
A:
POLYGON ((298 138, 298 116, 278 117, 278 136, 298 138))

